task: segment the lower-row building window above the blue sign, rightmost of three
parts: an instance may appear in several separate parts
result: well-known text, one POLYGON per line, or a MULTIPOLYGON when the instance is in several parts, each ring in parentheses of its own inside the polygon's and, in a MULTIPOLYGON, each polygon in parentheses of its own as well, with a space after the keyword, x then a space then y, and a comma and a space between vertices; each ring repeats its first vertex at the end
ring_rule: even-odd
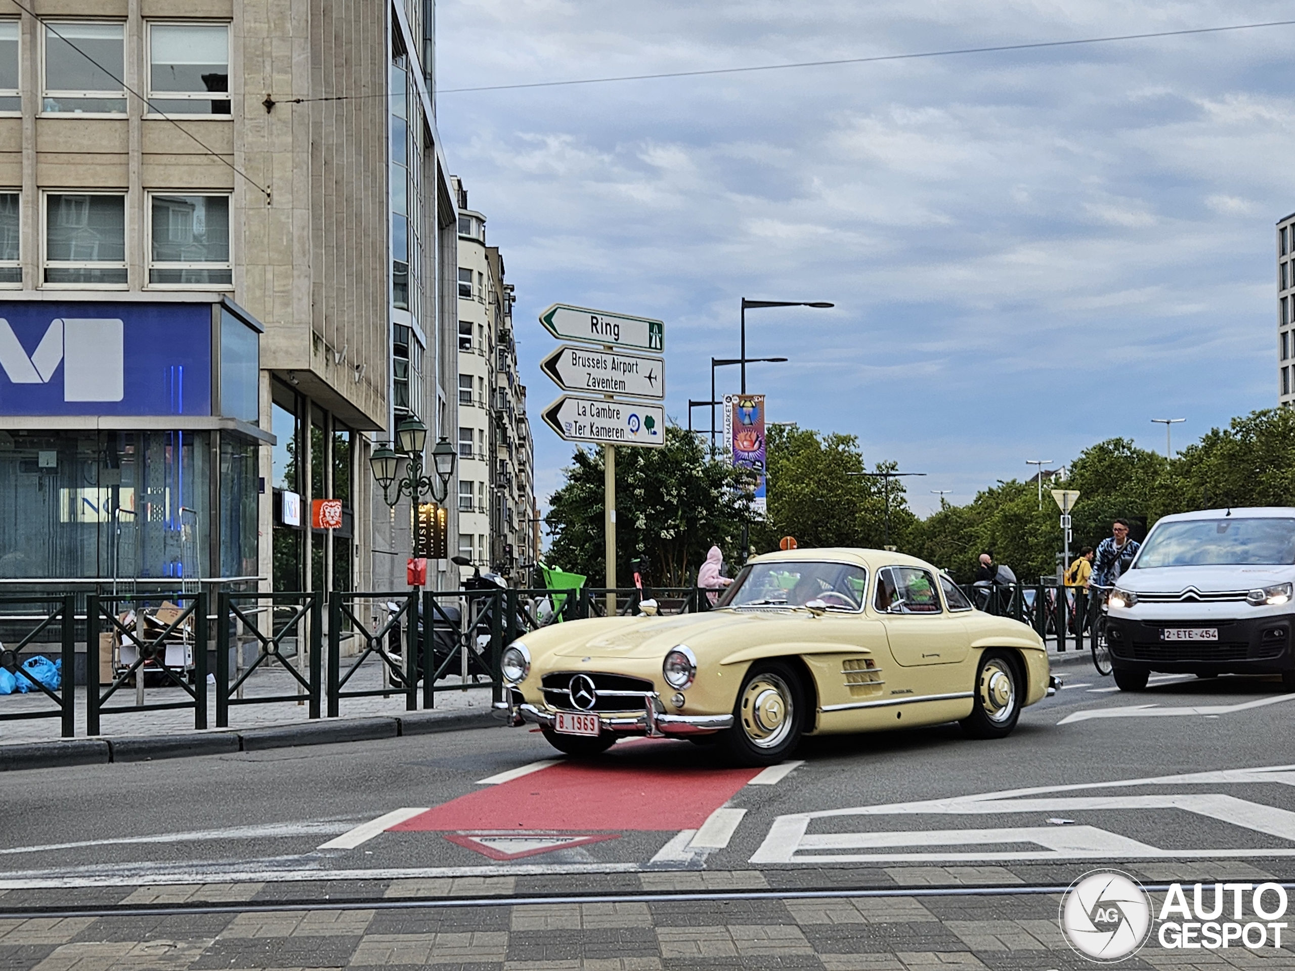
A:
POLYGON ((154 195, 149 282, 231 286, 228 195, 154 195))

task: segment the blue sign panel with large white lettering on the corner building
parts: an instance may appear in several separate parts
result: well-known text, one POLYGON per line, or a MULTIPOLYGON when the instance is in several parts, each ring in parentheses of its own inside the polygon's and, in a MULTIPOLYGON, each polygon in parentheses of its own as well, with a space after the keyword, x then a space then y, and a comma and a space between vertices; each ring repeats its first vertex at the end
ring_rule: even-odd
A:
POLYGON ((211 304, 0 300, 0 414, 211 414, 211 304))

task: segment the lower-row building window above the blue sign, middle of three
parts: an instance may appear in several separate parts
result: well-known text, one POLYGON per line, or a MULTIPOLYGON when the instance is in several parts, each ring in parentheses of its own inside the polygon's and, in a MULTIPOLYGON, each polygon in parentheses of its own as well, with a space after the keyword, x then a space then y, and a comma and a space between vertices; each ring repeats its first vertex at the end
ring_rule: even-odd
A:
POLYGON ((45 282, 126 286, 124 195, 45 195, 45 282))

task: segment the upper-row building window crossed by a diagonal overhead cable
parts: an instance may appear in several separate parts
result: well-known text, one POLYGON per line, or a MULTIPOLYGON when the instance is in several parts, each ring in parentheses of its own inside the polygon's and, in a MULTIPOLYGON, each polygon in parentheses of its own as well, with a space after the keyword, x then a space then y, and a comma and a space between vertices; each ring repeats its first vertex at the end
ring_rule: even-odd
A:
POLYGON ((126 25, 45 25, 45 111, 126 114, 126 25))

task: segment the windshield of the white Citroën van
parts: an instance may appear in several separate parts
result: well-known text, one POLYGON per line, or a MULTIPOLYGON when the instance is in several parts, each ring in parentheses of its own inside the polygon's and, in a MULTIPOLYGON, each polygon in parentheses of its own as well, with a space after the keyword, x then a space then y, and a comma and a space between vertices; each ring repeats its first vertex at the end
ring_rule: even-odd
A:
POLYGON ((1190 519, 1151 531, 1134 567, 1295 563, 1295 519, 1190 519))

